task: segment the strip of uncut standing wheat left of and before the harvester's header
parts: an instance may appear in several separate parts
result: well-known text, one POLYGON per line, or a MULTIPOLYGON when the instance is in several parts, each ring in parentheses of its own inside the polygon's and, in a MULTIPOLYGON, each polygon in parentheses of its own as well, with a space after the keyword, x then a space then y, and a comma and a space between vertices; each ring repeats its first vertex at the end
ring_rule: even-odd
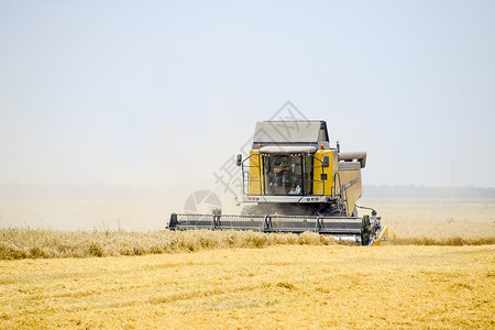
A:
POLYGON ((0 260, 143 255, 278 244, 329 245, 334 240, 316 233, 253 231, 85 232, 30 229, 0 230, 0 260))

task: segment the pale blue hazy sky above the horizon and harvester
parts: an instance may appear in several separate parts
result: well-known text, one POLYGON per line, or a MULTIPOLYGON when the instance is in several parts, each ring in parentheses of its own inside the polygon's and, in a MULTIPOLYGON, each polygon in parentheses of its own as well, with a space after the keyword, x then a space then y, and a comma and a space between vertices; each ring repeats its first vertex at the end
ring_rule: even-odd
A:
POLYGON ((495 1, 1 1, 0 184, 215 185, 287 100, 364 184, 495 187, 495 1))

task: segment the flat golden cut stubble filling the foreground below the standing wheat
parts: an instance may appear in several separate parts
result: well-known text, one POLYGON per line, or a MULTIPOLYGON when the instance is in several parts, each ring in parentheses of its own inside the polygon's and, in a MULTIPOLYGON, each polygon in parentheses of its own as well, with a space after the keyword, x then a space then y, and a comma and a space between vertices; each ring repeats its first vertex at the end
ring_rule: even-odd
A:
POLYGON ((493 329, 495 245, 0 262, 0 328, 493 329))

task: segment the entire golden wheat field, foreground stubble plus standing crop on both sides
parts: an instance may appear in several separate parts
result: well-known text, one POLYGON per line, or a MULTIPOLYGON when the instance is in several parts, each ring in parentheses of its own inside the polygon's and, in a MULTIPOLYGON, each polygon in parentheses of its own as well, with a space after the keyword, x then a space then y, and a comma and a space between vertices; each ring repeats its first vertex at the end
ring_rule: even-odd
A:
POLYGON ((493 205, 378 205, 316 233, 0 230, 0 329, 495 327, 493 205))

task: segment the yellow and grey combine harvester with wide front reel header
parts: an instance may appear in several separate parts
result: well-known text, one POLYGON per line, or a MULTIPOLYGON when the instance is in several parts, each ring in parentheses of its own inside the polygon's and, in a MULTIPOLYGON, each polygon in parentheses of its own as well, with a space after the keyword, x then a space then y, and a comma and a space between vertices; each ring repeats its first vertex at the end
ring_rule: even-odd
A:
POLYGON ((365 152, 330 147, 324 121, 263 121, 256 124, 250 155, 241 167, 240 216, 172 213, 170 230, 305 231, 351 240, 361 245, 388 244, 388 229, 376 211, 360 207, 365 152), (358 216, 358 208, 371 215, 358 216))

